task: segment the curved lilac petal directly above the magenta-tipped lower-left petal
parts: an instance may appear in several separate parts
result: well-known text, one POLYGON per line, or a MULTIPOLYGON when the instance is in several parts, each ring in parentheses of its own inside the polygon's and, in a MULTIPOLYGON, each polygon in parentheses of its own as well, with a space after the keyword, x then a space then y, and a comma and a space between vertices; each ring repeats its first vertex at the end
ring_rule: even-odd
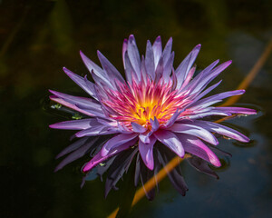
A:
POLYGON ((112 137, 110 140, 108 140, 103 146, 101 150, 102 156, 108 155, 109 152, 120 146, 121 144, 126 144, 132 139, 134 139, 139 134, 118 134, 114 137, 112 137))

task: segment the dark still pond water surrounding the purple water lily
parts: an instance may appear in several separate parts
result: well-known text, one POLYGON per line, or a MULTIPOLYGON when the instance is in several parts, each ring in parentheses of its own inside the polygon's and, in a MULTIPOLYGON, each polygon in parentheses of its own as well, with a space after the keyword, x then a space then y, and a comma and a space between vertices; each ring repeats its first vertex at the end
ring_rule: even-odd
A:
MULTIPOLYGON (((85 157, 53 173, 54 160, 69 144, 70 131, 48 128, 64 120, 48 110, 48 88, 83 91, 63 73, 65 65, 87 74, 78 51, 98 63, 99 49, 121 72, 121 44, 134 34, 141 54, 147 39, 173 37, 175 66, 202 44, 199 69, 212 61, 233 60, 217 92, 235 89, 272 35, 272 2, 231 1, 0 1, 1 210, 0 217, 106 217, 127 201, 127 178, 120 191, 103 197, 99 179, 80 189, 85 157)), ((153 202, 142 199, 129 217, 269 217, 272 213, 272 65, 270 56, 249 85, 241 104, 256 116, 229 121, 250 144, 221 140, 233 155, 219 180, 181 167, 189 192, 180 196, 168 179, 153 202)), ((131 183, 131 187, 132 187, 131 183)))

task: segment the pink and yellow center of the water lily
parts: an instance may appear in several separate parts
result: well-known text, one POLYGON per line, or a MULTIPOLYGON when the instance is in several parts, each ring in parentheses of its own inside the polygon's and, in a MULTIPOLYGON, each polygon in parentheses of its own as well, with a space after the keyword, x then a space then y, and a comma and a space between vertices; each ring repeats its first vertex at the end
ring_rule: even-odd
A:
POLYGON ((156 117, 165 124, 177 108, 185 104, 183 94, 171 90, 171 83, 147 81, 146 84, 120 84, 118 90, 105 90, 108 98, 103 104, 109 109, 110 116, 131 126, 131 122, 149 128, 150 120, 156 117))

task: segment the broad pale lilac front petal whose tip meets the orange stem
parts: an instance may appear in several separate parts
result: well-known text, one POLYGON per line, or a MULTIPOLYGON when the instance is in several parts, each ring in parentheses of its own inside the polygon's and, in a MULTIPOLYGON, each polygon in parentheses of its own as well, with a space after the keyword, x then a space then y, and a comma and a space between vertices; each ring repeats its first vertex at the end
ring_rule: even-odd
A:
POLYGON ((176 134, 173 134, 168 130, 159 130, 155 132, 154 135, 160 143, 168 146, 174 153, 178 154, 180 157, 184 156, 184 149, 176 134))

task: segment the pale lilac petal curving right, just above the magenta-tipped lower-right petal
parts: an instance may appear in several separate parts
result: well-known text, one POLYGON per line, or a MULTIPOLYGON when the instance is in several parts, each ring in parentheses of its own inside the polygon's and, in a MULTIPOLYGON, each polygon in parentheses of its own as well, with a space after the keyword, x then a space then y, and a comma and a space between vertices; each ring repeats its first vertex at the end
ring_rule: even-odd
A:
POLYGON ((205 128, 200 127, 199 125, 173 124, 169 130, 173 131, 174 133, 190 134, 199 137, 200 139, 205 140, 209 144, 219 144, 218 140, 213 134, 209 133, 209 131, 207 131, 205 128))

